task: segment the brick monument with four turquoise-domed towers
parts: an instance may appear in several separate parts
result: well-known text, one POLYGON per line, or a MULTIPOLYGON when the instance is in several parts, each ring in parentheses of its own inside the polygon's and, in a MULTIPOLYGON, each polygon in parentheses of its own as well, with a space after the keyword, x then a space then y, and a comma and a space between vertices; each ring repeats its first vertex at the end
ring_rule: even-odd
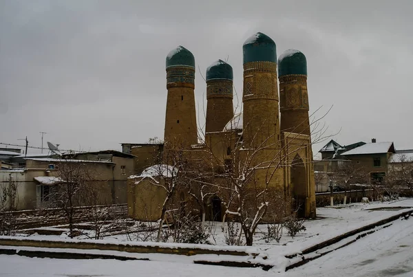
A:
MULTIPOLYGON (((243 45, 243 67, 243 111, 239 114, 234 114, 233 108, 231 65, 217 60, 207 68, 206 125, 200 135, 195 111, 195 58, 182 46, 167 55, 163 151, 179 146, 190 153, 189 162, 207 157, 213 161, 214 171, 221 170, 227 176, 252 172, 247 185, 251 190, 265 188, 268 192, 262 200, 270 203, 265 221, 271 221, 279 211, 277 201, 284 206, 288 203, 288 209, 299 217, 315 218, 306 56, 290 49, 277 59, 275 42, 258 32, 243 45)), ((215 183, 229 184, 225 176, 215 183)), ((129 178, 129 215, 135 219, 159 219, 165 192, 151 188, 150 182, 146 175, 129 178)), ((182 192, 177 195, 173 201, 188 197, 182 192)), ((224 193, 202 200, 207 219, 221 220, 223 203, 229 201, 224 193)), ((257 198, 246 197, 245 201, 253 206, 257 198)))

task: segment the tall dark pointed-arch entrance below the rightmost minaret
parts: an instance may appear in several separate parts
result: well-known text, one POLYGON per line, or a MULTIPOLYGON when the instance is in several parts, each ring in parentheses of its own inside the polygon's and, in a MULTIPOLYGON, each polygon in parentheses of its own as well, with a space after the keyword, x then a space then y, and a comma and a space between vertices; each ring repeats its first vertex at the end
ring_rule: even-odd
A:
POLYGON ((294 198, 292 208, 297 212, 297 217, 305 217, 307 198, 306 166, 298 154, 295 155, 291 164, 291 186, 294 198))

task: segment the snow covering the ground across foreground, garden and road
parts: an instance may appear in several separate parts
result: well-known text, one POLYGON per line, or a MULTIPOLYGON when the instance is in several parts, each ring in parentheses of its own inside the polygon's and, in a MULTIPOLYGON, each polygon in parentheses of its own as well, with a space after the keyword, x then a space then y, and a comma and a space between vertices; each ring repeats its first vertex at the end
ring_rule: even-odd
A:
MULTIPOLYGON (((413 199, 390 203, 357 203, 339 208, 317 208, 317 216, 321 219, 306 221, 306 232, 298 234, 294 239, 284 232, 279 243, 266 243, 262 232, 255 236, 255 247, 268 254, 262 261, 275 265, 270 272, 262 269, 236 267, 220 267, 195 265, 195 259, 224 259, 217 255, 195 255, 191 257, 166 254, 127 254, 151 261, 113 261, 113 260, 57 260, 25 258, 20 256, 0 255, 0 276, 389 276, 405 274, 413 276, 413 219, 400 219, 385 229, 370 234, 356 243, 336 250, 315 261, 284 272, 289 261, 286 254, 299 253, 302 250, 326 241, 339 234, 360 228, 364 225, 391 217, 394 214, 413 207, 413 199), (396 208, 402 207, 402 208, 396 208), (371 210, 389 208, 386 210, 371 210), (31 274, 30 274, 31 273, 31 274), (409 275, 411 274, 411 275, 409 275)), ((266 231, 266 225, 260 226, 266 231)), ((36 239, 59 239, 59 236, 36 236, 36 239)), ((220 223, 215 226, 214 239, 217 245, 224 244, 224 235, 220 223)), ((108 242, 125 242, 123 235, 107 238, 108 242)), ((28 249, 30 247, 26 247, 28 249)), ((65 250, 67 251, 67 250, 65 250)), ((83 251, 83 250, 75 250, 83 251)), ((94 250, 99 252, 99 250, 94 250)), ((90 253, 90 252, 88 252, 90 253)), ((113 254, 113 253, 106 253, 113 254)), ((262 255, 260 255, 262 256, 262 255)), ((234 257, 233 257, 234 258, 234 257)), ((241 258, 241 257, 235 257, 241 258)))

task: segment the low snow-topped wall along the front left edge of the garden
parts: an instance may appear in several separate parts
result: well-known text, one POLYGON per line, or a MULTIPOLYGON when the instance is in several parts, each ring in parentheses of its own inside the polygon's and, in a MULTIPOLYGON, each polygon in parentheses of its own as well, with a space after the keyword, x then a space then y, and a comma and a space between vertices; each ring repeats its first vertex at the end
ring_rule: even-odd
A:
POLYGON ((103 241, 45 241, 36 239, 23 239, 0 236, 0 245, 18 247, 43 247, 43 248, 71 248, 81 250, 112 250, 129 253, 162 253, 192 256, 196 254, 218 254, 233 256, 248 256, 257 252, 253 247, 231 247, 231 250, 222 250, 214 245, 182 245, 169 243, 105 243, 103 241), (238 248, 238 249, 237 249, 238 248))

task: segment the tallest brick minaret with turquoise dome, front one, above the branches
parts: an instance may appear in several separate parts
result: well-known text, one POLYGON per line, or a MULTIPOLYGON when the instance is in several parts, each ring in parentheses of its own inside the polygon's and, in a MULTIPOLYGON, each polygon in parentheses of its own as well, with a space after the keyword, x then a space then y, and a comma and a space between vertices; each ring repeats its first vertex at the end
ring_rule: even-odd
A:
POLYGON ((248 38, 244 52, 243 137, 246 147, 279 148, 277 51, 262 33, 248 38))

